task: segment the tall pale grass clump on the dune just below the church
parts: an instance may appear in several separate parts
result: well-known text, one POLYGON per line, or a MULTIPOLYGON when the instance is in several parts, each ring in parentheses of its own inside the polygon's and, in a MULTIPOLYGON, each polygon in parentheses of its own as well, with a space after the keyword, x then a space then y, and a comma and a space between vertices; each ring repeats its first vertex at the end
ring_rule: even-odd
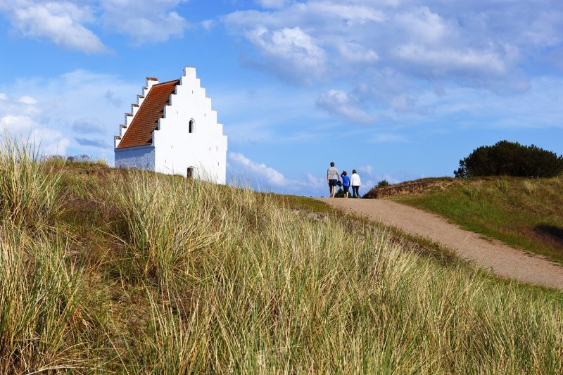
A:
POLYGON ((189 277, 193 253, 219 241, 222 223, 213 220, 213 189, 190 179, 126 173, 111 190, 126 227, 125 272, 159 283, 189 277), (133 267, 128 267, 132 265, 133 267))

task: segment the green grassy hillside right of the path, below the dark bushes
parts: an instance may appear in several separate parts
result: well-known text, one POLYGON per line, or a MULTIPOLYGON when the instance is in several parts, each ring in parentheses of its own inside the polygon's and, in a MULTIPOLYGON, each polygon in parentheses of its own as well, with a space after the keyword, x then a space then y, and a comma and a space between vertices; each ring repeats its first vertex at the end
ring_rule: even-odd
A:
POLYGON ((423 179, 372 189, 464 229, 563 262, 563 178, 423 179))

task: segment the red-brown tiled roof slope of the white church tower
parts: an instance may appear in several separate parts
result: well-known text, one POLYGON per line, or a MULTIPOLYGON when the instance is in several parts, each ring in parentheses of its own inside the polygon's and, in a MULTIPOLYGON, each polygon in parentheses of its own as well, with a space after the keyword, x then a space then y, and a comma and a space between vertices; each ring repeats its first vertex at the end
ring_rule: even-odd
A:
POLYGON ((150 145, 158 120, 164 115, 164 107, 170 104, 170 95, 175 93, 179 80, 154 84, 135 113, 131 125, 123 135, 117 148, 150 145))

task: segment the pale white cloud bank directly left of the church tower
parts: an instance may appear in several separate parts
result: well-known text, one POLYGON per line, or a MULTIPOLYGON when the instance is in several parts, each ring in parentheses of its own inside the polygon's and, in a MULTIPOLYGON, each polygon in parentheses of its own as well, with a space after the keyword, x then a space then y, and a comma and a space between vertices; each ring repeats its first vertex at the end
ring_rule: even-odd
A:
POLYGON ((11 134, 41 141, 44 153, 83 153, 84 142, 80 144, 75 135, 96 134, 95 140, 105 140, 106 148, 96 150, 94 156, 108 157, 113 154, 113 135, 118 134, 129 106, 108 105, 106 94, 110 90, 114 100, 130 103, 141 83, 127 84, 112 75, 75 70, 50 79, 20 79, 0 85, 0 91, 6 93, 0 106, 0 126, 11 134))

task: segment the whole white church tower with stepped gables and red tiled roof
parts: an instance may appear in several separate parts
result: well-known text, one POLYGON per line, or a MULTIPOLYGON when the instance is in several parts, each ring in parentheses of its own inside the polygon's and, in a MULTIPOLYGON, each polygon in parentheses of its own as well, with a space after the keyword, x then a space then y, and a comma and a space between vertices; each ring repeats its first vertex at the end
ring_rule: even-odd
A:
POLYGON ((179 80, 147 78, 115 136, 115 167, 182 174, 224 184, 227 136, 196 69, 179 80))

